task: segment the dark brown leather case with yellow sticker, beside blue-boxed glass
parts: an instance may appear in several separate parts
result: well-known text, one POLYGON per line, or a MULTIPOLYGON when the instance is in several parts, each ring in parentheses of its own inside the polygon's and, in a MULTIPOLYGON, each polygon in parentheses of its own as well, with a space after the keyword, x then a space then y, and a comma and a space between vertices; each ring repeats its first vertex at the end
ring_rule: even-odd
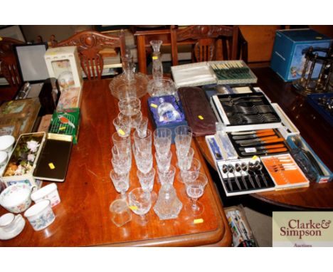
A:
POLYGON ((204 91, 199 87, 182 87, 178 89, 179 99, 194 136, 216 133, 216 116, 209 105, 204 91))

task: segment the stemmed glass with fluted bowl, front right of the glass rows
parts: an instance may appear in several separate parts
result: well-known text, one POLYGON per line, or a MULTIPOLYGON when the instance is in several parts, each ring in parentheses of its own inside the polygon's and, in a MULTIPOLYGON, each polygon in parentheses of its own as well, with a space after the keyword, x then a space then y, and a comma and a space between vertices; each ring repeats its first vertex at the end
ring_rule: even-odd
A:
POLYGON ((188 202, 185 205, 185 209, 194 216, 199 216, 203 213, 204 207, 203 204, 198 202, 198 199, 202 197, 208 183, 208 179, 205 174, 200 172, 196 179, 186 179, 184 180, 184 183, 186 186, 186 194, 191 199, 191 202, 188 202))

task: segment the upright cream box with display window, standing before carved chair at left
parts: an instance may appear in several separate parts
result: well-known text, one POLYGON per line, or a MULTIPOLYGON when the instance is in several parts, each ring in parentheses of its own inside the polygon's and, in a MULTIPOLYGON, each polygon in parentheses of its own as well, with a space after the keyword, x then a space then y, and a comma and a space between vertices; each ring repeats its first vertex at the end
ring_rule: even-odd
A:
MULTIPOLYGON (((74 85, 70 87, 82 88, 82 68, 80 66, 80 58, 78 57, 78 48, 76 48, 76 46, 48 48, 44 58, 50 78, 59 78, 59 75, 62 73, 71 72, 73 74, 74 85)), ((60 82, 58 83, 60 91, 67 90, 60 82)))

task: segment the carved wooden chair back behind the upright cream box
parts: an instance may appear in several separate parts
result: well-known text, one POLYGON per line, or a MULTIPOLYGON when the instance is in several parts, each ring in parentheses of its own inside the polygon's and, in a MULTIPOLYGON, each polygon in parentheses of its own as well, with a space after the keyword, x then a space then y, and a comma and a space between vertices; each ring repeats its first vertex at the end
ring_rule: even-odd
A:
POLYGON ((125 32, 120 31, 120 36, 109 36, 97 31, 81 31, 60 41, 56 46, 77 46, 81 67, 88 80, 100 79, 103 70, 103 58, 100 51, 103 48, 120 48, 120 56, 125 55, 125 32))

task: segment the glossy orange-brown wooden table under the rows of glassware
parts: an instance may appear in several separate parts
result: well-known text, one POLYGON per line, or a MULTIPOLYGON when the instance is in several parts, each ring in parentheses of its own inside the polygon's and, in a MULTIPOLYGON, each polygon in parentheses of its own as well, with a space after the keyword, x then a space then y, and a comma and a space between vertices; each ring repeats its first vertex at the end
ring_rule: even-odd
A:
MULTIPOLYGON (((195 218, 184 209, 179 218, 166 221, 159 220, 151 209, 146 226, 138 224, 136 214, 122 227, 112 223, 109 206, 119 194, 109 172, 111 135, 115 132, 112 120, 118 107, 109 83, 110 80, 84 83, 78 145, 73 146, 65 182, 57 183, 61 203, 53 208, 56 220, 41 231, 33 231, 26 220, 22 233, 9 241, 0 241, 0 246, 230 246, 231 232, 221 200, 194 141, 195 157, 201 160, 201 172, 209 179, 199 199, 205 207, 200 216, 203 223, 194 224, 195 218)), ((144 115, 147 115, 147 96, 142 98, 144 115)), ((149 128, 152 129, 150 124, 149 128)), ((175 151, 174 145, 171 150, 175 151)), ((176 165, 175 154, 171 163, 176 165)), ((139 187, 136 171, 133 158, 129 191, 139 187)), ((155 179, 154 192, 158 193, 159 187, 155 179)), ((183 184, 175 180, 174 187, 183 204, 189 201, 183 184)), ((0 209, 0 215, 6 212, 0 209)))

